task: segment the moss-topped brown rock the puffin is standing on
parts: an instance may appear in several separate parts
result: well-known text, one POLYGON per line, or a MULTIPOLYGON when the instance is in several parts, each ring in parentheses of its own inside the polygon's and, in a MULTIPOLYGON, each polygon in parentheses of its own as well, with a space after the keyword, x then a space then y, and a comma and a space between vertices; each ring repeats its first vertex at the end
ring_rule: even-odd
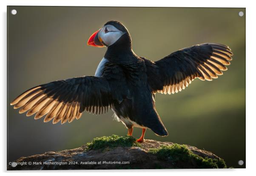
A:
POLYGON ((226 168, 223 159, 193 146, 131 136, 98 137, 79 148, 15 160, 7 170, 226 168), (16 167, 13 167, 17 164, 16 167))

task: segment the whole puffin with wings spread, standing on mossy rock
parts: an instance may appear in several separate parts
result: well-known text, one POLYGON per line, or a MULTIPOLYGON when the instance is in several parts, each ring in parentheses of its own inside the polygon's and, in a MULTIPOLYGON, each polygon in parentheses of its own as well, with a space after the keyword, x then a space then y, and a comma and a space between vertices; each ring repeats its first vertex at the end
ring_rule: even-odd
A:
POLYGON ((186 47, 158 61, 140 57, 132 50, 131 35, 118 21, 109 21, 88 39, 93 47, 107 47, 94 76, 74 77, 37 85, 11 102, 19 113, 53 124, 72 122, 84 111, 93 114, 114 112, 132 135, 141 128, 137 142, 144 141, 146 129, 167 136, 156 112, 156 93, 174 94, 193 80, 211 81, 230 65, 233 53, 224 44, 204 43, 186 47))

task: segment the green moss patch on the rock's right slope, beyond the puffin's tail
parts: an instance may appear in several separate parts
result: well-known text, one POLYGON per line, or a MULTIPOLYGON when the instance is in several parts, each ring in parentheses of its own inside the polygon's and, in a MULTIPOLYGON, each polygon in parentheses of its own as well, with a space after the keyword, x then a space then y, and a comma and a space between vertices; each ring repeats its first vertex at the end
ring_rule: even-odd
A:
POLYGON ((173 144, 172 146, 161 146, 160 148, 151 148, 152 154, 156 154, 159 159, 172 162, 173 165, 182 167, 191 166, 191 168, 227 168, 223 159, 203 158, 193 154, 187 146, 173 144))

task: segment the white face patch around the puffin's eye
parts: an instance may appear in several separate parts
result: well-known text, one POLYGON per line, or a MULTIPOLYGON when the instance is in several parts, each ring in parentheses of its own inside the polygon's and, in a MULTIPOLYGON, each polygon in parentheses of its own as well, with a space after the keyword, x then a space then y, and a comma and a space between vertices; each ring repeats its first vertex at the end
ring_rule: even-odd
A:
POLYGON ((125 32, 117 29, 112 25, 105 25, 100 29, 99 39, 101 39, 108 47, 114 44, 125 32))

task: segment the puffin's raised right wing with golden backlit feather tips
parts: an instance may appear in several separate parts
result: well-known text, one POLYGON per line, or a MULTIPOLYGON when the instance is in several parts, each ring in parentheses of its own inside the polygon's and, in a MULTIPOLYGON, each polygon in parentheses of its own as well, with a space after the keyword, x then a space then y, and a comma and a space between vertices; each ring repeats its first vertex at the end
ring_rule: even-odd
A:
POLYGON ((218 78, 230 65, 231 55, 233 53, 228 46, 210 43, 173 52, 154 63, 157 68, 154 77, 158 78, 158 85, 151 87, 155 88, 153 91, 171 94, 182 91, 195 78, 208 81, 218 78))

